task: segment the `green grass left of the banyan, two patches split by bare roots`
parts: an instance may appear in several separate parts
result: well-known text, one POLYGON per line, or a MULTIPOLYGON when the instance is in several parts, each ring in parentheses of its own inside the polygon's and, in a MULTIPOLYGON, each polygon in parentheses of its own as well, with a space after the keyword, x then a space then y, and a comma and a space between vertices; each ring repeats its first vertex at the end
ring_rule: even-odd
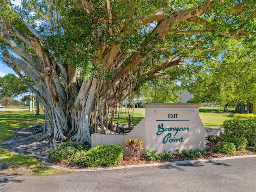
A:
MULTIPOLYGON (((35 124, 42 123, 44 115, 35 116, 32 112, 27 111, 6 111, 0 112, 0 141, 7 140, 12 137, 15 128, 27 128, 35 124)), ((42 162, 28 156, 12 154, 2 149, 0 146, 0 170, 7 167, 9 170, 14 170, 18 167, 25 167, 33 174, 53 175, 60 170, 50 170, 44 166, 42 162)))

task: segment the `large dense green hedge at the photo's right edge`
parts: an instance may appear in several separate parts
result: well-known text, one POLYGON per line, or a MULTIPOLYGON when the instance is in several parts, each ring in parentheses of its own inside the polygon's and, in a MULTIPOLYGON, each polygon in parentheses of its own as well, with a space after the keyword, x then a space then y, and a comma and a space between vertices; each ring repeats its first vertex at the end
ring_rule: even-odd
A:
POLYGON ((224 132, 227 138, 246 138, 248 145, 256 146, 256 117, 225 120, 224 132))

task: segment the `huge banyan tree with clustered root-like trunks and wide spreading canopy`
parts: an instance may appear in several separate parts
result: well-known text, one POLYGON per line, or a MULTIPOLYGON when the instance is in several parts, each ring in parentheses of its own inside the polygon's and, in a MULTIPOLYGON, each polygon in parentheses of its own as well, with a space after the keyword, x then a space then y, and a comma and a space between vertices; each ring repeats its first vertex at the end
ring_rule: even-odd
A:
POLYGON ((2 60, 41 100, 48 121, 36 139, 53 144, 90 143, 138 86, 202 72, 209 62, 219 68, 229 46, 255 42, 254 0, 0 4, 2 60))

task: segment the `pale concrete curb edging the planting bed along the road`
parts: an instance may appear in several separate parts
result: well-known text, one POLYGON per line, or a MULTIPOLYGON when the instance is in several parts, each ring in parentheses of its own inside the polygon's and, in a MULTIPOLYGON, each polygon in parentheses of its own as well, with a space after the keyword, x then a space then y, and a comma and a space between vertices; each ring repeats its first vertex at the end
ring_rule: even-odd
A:
POLYGON ((256 158, 256 155, 243 155, 243 156, 233 156, 233 157, 222 157, 222 158, 212 158, 212 159, 199 159, 199 160, 186 160, 186 161, 174 161, 174 162, 164 162, 164 163, 152 163, 152 164, 139 164, 139 165, 127 165, 127 166, 118 166, 118 167, 107 167, 107 168, 88 168, 88 169, 69 169, 59 167, 53 164, 46 162, 46 158, 42 160, 42 163, 51 168, 70 171, 70 172, 91 172, 91 171, 112 171, 112 170, 127 170, 128 168, 138 168, 138 167, 154 167, 154 166, 174 166, 174 165, 186 165, 186 164, 199 164, 199 163, 211 163, 218 162, 222 160, 234 160, 241 158, 256 158))

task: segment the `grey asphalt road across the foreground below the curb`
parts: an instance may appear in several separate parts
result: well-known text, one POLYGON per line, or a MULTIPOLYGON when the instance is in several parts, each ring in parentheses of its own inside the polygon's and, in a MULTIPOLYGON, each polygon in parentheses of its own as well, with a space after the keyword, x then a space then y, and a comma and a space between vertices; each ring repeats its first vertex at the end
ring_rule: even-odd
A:
POLYGON ((56 176, 1 174, 1 192, 256 192, 256 158, 56 176))

